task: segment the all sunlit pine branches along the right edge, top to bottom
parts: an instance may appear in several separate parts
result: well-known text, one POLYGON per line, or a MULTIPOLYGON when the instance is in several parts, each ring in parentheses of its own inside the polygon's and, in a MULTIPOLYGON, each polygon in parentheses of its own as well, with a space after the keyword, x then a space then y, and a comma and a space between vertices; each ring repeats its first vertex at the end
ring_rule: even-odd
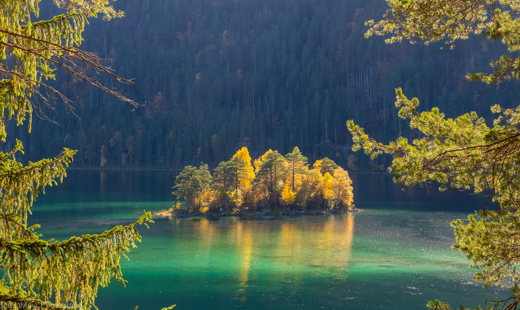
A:
MULTIPOLYGON (((368 21, 372 34, 392 36, 387 43, 414 37, 425 43, 446 40, 446 46, 466 39, 471 33, 490 40, 502 39, 510 52, 520 49, 520 11, 516 1, 388 1, 390 8, 380 22, 368 21)), ((520 60, 503 55, 491 62, 493 72, 468 73, 470 80, 498 83, 520 78, 520 60)), ((446 119, 438 108, 419 110, 419 99, 409 100, 401 88, 396 89, 399 116, 409 121, 410 128, 420 131, 412 144, 400 137, 388 145, 378 143, 363 128, 348 121, 354 140, 353 150, 363 148, 372 159, 382 153, 393 154, 389 171, 395 182, 405 185, 440 183, 440 190, 449 185, 471 189, 476 193, 490 191, 497 211, 484 209, 470 215, 466 225, 453 221, 457 243, 478 270, 474 279, 484 286, 511 283, 512 296, 506 300, 488 300, 488 309, 518 309, 520 305, 520 107, 491 107, 498 114, 488 126, 476 112, 456 119, 446 119)), ((432 309, 450 309, 439 300, 431 301, 432 309)), ((460 306, 461 309, 463 308, 460 306)), ((479 308, 478 308, 479 309, 479 308)))

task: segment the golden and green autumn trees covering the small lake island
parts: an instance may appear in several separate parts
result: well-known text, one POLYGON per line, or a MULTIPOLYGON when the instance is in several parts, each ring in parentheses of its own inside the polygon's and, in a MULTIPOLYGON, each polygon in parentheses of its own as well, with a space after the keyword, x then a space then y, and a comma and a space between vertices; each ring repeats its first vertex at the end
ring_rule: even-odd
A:
MULTIPOLYGON (((173 194, 184 199, 190 212, 206 213, 223 206, 238 212, 267 208, 354 207, 348 172, 324 158, 309 169, 298 147, 282 156, 268 150, 252 161, 242 147, 229 161, 221 162, 211 175, 207 164, 186 166, 176 179, 173 194)), ((171 209, 181 208, 179 201, 171 209)))

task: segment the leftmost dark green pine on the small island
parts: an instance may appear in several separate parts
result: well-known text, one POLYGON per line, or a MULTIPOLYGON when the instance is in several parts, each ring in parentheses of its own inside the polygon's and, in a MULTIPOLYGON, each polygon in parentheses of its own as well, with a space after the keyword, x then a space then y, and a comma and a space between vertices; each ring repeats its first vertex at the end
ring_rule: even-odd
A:
POLYGON ((200 171, 194 166, 184 167, 183 172, 175 178, 175 186, 172 188, 176 188, 172 194, 177 199, 183 198, 186 200, 187 208, 190 207, 190 203, 193 206, 195 199, 199 197, 203 188, 200 171))

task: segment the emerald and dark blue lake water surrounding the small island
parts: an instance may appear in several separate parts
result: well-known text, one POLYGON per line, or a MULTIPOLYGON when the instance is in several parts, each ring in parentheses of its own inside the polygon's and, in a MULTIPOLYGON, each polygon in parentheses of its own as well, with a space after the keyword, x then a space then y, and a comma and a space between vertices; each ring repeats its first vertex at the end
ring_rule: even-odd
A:
MULTIPOLYGON (((99 309, 426 309, 484 306, 508 289, 472 281, 450 247, 452 219, 485 198, 410 188, 385 174, 352 174, 361 212, 327 216, 154 218, 122 259, 126 287, 99 288, 99 309), (124 260, 124 261, 123 261, 124 260)), ((99 233, 142 211, 170 208, 175 172, 70 170, 29 224, 45 239, 99 233)))

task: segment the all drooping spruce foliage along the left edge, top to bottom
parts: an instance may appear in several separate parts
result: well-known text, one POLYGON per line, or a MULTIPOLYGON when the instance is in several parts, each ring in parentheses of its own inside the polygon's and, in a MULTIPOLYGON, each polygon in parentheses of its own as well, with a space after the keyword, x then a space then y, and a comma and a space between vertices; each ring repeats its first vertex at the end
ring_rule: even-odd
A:
MULTIPOLYGON (((49 98, 57 97, 72 109, 67 97, 46 84, 55 79, 56 68, 69 72, 73 80, 81 79, 136 105, 118 91, 103 86, 87 70, 108 73, 116 82, 130 81, 103 66, 96 54, 78 48, 89 18, 100 14, 110 20, 122 17, 123 12, 114 10, 107 0, 55 0, 64 14, 32 22, 38 18, 39 2, 0 2, 0 139, 4 142, 5 117, 10 120, 14 116, 17 125, 29 118, 30 132, 33 111, 45 118, 40 105, 50 106, 53 102, 49 98)), ((99 235, 61 242, 41 239, 42 235, 35 232, 39 225, 28 227, 28 214, 38 193, 45 193, 46 186, 57 185, 57 178, 61 182, 67 176, 66 167, 76 151, 65 148, 58 158, 23 166, 16 161, 16 154, 22 149, 17 140, 12 151, 0 152, 0 303, 2 307, 7 303, 9 308, 93 308, 99 285, 105 287, 112 278, 124 285, 120 256, 128 258, 124 252, 141 240, 137 225, 148 226, 151 214, 145 212, 137 222, 99 235)))

